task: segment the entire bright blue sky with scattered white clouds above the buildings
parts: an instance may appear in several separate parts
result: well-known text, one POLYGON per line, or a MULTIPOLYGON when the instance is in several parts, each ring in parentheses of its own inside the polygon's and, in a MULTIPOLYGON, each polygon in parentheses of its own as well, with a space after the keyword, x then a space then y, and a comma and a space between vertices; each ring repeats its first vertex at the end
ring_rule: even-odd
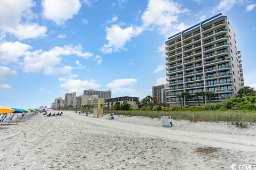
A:
POLYGON ((256 88, 256 1, 0 1, 0 105, 50 106, 83 89, 151 95, 165 83, 164 42, 222 12, 256 88))

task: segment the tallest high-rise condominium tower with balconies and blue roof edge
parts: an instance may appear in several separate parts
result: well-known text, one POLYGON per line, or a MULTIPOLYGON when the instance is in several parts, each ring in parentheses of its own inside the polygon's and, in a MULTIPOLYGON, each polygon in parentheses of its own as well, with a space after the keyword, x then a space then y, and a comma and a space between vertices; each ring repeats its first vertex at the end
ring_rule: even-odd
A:
MULTIPOLYGON (((194 25, 165 43, 167 103, 179 105, 177 95, 188 92, 187 105, 198 105, 196 92, 212 91, 211 101, 225 100, 243 86, 236 35, 221 13, 194 25)), ((199 96, 203 104, 203 96, 199 96)), ((206 97, 206 102, 209 98, 206 97)))

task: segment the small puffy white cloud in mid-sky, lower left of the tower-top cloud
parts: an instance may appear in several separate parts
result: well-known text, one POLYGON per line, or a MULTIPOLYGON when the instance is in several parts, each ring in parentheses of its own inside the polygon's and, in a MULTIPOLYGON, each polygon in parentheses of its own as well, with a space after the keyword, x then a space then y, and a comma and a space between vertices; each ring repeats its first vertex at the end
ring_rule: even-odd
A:
POLYGON ((104 54, 112 53, 113 51, 118 52, 119 49, 125 50, 125 43, 141 32, 142 29, 139 27, 130 26, 123 29, 120 25, 114 24, 110 28, 107 28, 106 39, 108 40, 108 44, 104 44, 100 50, 104 54))

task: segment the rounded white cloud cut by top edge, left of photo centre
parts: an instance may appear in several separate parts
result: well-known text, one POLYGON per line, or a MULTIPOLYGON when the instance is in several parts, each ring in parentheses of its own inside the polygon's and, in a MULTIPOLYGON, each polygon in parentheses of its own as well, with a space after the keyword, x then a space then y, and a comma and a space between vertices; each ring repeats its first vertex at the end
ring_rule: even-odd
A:
POLYGON ((79 0, 44 0, 42 6, 44 17, 61 25, 78 14, 81 3, 79 0))

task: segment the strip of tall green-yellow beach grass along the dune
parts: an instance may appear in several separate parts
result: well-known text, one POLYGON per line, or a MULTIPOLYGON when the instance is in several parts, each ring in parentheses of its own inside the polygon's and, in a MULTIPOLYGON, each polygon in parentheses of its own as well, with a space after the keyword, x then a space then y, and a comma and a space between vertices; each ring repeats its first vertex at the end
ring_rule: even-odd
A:
POLYGON ((114 113, 115 115, 145 116, 150 118, 160 118, 171 116, 174 120, 189 120, 191 122, 231 122, 234 124, 244 124, 243 122, 256 123, 256 112, 252 111, 114 111, 105 110, 104 113, 114 113))

